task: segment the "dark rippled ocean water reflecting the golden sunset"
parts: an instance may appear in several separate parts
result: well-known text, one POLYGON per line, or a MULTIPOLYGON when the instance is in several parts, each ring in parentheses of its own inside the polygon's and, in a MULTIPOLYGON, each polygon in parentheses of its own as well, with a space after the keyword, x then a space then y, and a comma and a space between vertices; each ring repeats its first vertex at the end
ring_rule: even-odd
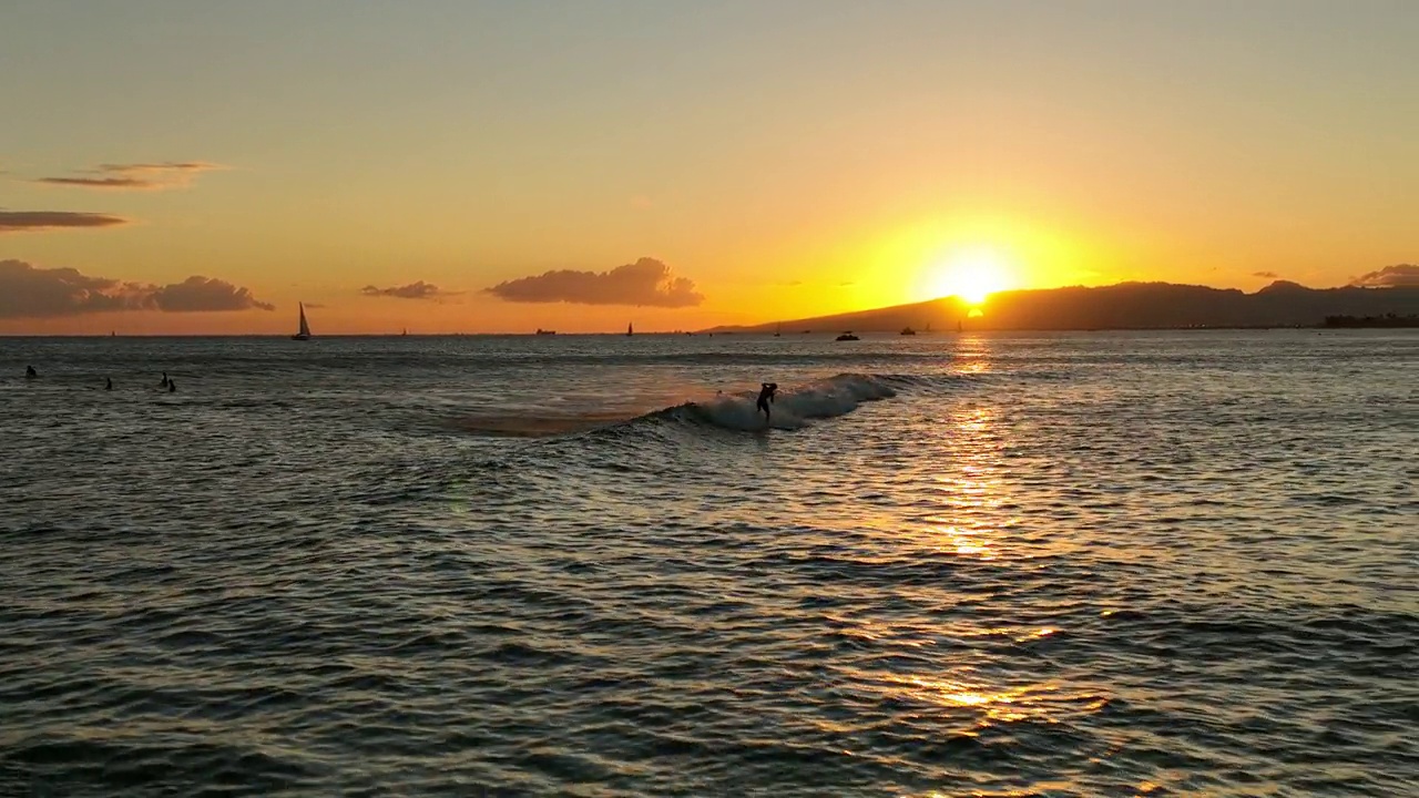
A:
POLYGON ((0 446, 0 795, 1419 794, 1412 331, 13 338, 0 446))

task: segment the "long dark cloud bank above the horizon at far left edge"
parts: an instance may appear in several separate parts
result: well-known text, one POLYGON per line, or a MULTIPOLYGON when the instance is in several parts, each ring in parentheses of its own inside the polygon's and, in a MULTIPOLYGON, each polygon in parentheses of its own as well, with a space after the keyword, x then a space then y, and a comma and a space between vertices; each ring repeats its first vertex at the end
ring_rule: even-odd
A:
POLYGON ((75 268, 35 268, 0 260, 0 318, 51 318, 114 311, 240 311, 275 310, 251 291, 223 280, 189 277, 152 285, 89 277, 75 268))

